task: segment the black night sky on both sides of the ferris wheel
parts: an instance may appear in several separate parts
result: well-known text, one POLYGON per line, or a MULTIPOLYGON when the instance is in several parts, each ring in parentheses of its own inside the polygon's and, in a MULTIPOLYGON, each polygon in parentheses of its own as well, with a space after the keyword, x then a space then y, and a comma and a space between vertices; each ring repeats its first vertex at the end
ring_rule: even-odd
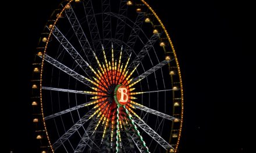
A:
MULTIPOLYGON (((6 72, 11 74, 6 76, 10 83, 3 94, 9 104, 9 151, 37 151, 31 65, 40 33, 59 2, 22 1, 11 9, 16 14, 8 22, 12 28, 6 37, 10 58, 2 64, 8 65, 6 72)), ((256 51, 252 5, 212 0, 164 2, 149 4, 165 24, 181 66, 184 126, 179 152, 251 152, 256 51)))

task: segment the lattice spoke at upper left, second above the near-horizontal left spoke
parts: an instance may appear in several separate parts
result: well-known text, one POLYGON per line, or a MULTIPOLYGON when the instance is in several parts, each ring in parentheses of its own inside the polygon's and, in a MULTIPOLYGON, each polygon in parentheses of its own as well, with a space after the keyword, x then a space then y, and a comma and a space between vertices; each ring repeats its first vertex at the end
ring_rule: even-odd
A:
MULTIPOLYGON (((57 27, 54 27, 54 30, 52 30, 52 34, 59 41, 59 43, 61 43, 63 48, 65 48, 65 50, 70 54, 70 56, 76 61, 76 63, 82 68, 82 70, 85 70, 85 68, 88 67, 89 64, 83 59, 83 57, 81 57, 81 55, 77 52, 77 50, 74 49, 74 47, 62 34, 62 32, 57 27)), ((87 70, 87 71, 90 71, 90 70, 87 70)))

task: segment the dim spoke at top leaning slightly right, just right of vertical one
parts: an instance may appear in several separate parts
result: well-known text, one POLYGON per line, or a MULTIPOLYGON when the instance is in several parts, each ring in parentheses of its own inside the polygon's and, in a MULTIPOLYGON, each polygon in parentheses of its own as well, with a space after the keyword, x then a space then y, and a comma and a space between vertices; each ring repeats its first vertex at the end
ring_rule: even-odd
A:
POLYGON ((123 33, 125 32, 125 20, 127 13, 127 0, 121 0, 119 6, 119 13, 121 16, 118 18, 118 22, 116 24, 116 33, 115 38, 123 41, 123 33))

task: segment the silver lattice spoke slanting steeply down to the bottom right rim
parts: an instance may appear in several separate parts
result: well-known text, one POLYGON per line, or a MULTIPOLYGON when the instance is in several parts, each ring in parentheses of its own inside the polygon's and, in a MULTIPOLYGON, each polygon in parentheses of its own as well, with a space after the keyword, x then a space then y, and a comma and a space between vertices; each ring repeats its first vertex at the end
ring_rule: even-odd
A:
MULTIPOLYGON (((172 145, 167 143, 157 132, 155 132, 150 126, 148 126, 142 119, 133 119, 134 123, 136 123, 138 126, 140 126, 141 129, 144 130, 149 136, 152 137, 159 145, 161 145, 165 150, 169 150, 170 148, 173 148, 172 145)), ((174 149, 174 148, 173 148, 174 149)))

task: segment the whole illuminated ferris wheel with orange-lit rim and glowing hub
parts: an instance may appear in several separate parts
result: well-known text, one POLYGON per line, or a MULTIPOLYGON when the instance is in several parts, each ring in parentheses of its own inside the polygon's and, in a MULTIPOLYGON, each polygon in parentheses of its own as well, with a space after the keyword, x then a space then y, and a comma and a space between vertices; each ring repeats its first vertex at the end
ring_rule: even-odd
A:
POLYGON ((144 0, 63 1, 33 64, 45 152, 177 152, 183 89, 172 42, 144 0))

